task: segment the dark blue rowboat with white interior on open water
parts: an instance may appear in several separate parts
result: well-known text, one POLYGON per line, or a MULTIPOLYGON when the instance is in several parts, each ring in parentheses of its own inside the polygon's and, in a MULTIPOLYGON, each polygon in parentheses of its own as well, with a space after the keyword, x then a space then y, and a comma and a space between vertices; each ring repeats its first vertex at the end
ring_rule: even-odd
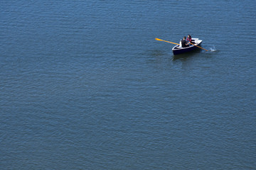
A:
POLYGON ((185 52, 191 52, 193 50, 199 49, 196 46, 200 46, 201 43, 203 42, 203 40, 199 40, 198 38, 192 38, 191 42, 193 43, 193 45, 191 45, 189 47, 181 47, 181 43, 180 43, 180 45, 175 45, 172 48, 172 51, 174 52, 174 55, 180 55, 180 54, 183 54, 185 52))

